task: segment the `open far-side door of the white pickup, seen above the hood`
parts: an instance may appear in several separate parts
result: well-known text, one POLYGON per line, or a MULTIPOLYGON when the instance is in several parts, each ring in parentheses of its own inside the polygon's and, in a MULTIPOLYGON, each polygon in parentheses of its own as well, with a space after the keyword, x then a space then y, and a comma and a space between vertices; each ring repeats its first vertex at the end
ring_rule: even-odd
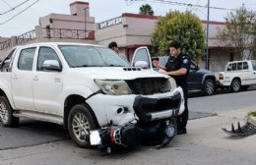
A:
POLYGON ((139 47, 135 50, 133 59, 132 59, 132 66, 134 67, 139 66, 144 69, 153 70, 151 54, 149 49, 146 46, 139 47))

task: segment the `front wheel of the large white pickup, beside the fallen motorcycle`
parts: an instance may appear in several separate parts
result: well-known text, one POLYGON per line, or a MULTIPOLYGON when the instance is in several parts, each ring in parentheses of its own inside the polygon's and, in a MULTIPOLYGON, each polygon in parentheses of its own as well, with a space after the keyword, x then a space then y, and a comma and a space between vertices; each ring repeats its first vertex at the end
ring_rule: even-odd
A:
POLYGON ((96 130, 97 124, 86 104, 78 104, 72 107, 68 117, 68 130, 70 137, 76 144, 83 148, 91 148, 89 135, 84 130, 96 130))

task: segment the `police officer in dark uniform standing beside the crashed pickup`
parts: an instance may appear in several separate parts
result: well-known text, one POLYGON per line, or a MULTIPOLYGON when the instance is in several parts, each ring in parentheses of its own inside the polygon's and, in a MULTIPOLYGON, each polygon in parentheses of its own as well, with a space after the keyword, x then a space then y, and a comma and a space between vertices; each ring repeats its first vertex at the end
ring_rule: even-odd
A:
POLYGON ((169 45, 170 57, 165 66, 160 66, 158 61, 153 64, 157 68, 166 71, 164 74, 171 76, 178 86, 183 89, 185 110, 177 119, 177 134, 186 134, 186 125, 188 121, 188 83, 187 77, 190 70, 191 59, 188 55, 182 54, 179 41, 172 41, 169 45))

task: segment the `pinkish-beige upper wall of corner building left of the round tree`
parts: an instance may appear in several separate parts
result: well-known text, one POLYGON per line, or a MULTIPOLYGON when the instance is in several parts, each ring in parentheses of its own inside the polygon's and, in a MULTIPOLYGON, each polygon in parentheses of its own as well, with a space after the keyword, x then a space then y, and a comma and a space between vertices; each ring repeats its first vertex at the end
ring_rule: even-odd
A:
POLYGON ((122 23, 98 28, 96 24, 96 42, 100 45, 107 46, 109 42, 116 41, 119 47, 134 44, 151 44, 151 33, 157 22, 157 17, 138 18, 137 14, 123 14, 122 23))

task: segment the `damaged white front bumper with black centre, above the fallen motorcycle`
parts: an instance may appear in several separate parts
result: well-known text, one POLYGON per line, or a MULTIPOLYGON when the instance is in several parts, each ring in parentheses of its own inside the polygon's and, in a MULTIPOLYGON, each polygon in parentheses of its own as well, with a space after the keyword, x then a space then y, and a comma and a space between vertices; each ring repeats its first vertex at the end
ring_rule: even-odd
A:
POLYGON ((153 95, 106 95, 98 93, 86 102, 100 127, 123 126, 131 121, 153 122, 180 115, 184 111, 181 87, 153 95), (102 101, 103 100, 103 101, 102 101))

